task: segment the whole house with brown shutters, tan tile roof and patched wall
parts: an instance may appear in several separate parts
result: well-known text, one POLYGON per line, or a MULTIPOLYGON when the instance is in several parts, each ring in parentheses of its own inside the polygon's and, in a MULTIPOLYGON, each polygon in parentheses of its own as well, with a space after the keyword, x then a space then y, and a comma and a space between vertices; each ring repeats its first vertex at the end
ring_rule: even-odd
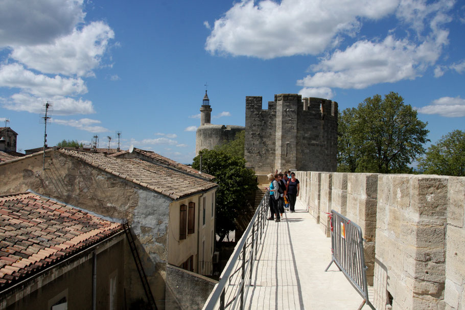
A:
MULTIPOLYGON (((127 220, 157 305, 163 307, 170 292, 167 264, 212 272, 212 264, 204 262, 213 260, 217 188, 213 176, 139 149, 107 155, 54 148, 45 151, 45 170, 42 158, 39 152, 0 163, 0 175, 8 180, 0 182, 0 194, 32 189, 127 220)), ((135 269, 125 277, 129 299, 141 295, 139 282, 135 269)))

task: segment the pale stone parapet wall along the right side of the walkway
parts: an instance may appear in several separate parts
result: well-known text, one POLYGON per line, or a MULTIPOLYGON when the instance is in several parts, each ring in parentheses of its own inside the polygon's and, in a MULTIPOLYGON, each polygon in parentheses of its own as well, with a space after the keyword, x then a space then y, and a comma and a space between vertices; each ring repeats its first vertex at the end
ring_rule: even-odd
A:
POLYGON ((374 285, 377 309, 464 309, 464 177, 296 176, 304 184, 298 199, 315 219, 319 210, 323 228, 327 216, 322 212, 330 204, 362 228, 367 281, 374 285))

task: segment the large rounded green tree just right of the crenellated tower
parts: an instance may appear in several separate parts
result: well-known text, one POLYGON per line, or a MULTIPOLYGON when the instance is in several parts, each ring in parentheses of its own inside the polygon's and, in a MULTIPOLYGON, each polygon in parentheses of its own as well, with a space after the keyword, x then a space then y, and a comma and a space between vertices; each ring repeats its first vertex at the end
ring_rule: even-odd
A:
POLYGON ((396 92, 367 98, 340 116, 338 171, 410 173, 425 152, 427 123, 396 92))

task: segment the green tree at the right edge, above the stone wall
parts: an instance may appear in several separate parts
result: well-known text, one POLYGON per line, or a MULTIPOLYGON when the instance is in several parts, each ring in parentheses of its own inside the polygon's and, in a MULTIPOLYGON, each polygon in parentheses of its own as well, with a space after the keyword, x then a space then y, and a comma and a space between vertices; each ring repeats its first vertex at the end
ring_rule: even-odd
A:
POLYGON ((465 131, 454 130, 431 145, 418 169, 426 174, 465 176, 465 131))

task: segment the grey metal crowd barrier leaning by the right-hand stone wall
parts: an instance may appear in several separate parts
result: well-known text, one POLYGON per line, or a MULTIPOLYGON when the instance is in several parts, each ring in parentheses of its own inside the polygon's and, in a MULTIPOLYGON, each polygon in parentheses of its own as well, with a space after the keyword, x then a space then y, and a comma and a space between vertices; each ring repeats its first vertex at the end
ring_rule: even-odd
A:
POLYGON ((342 214, 331 210, 331 251, 332 260, 324 270, 328 271, 333 262, 349 280, 355 290, 363 297, 359 310, 366 303, 371 309, 375 307, 368 299, 366 284, 365 254, 363 253, 362 229, 342 214))

